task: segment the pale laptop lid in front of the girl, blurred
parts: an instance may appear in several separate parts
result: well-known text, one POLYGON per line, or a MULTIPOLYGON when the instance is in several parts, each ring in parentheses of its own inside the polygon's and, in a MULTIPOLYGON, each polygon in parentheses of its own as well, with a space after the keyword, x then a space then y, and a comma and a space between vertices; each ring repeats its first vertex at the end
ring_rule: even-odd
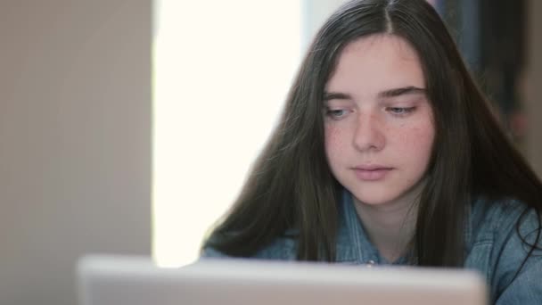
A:
POLYGON ((150 258, 78 261, 79 305, 486 305, 483 278, 464 269, 263 260, 199 260, 158 268, 150 258))

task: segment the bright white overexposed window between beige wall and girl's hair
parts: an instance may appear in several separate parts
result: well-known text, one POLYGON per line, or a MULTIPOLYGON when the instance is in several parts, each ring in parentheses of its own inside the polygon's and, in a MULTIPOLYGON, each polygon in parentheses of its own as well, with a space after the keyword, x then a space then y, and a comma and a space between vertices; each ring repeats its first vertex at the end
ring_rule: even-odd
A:
POLYGON ((198 256, 275 126, 300 62, 300 1, 155 2, 152 253, 198 256))

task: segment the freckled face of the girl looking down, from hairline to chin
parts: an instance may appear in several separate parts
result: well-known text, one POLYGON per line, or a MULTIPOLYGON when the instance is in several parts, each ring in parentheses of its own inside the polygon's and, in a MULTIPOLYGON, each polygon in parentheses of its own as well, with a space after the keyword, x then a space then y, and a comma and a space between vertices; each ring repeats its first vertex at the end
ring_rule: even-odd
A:
POLYGON ((325 152, 358 203, 412 202, 435 135, 415 50, 393 35, 347 45, 324 92, 325 152))

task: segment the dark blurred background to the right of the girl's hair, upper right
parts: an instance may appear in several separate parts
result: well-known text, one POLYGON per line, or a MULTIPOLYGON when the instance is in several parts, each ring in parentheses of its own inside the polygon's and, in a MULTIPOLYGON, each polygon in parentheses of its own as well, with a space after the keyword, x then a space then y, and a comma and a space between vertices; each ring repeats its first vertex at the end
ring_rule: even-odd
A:
MULTIPOLYGON (((526 73, 533 26, 527 0, 434 0, 503 127, 526 153, 526 73)), ((533 140, 534 141, 534 140, 533 140)), ((531 142, 533 144, 533 142, 531 142)))

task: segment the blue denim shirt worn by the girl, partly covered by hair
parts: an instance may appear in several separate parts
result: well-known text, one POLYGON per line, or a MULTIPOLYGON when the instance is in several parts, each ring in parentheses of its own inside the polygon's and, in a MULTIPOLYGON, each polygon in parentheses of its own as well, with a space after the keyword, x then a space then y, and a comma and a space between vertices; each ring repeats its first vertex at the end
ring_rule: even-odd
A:
MULTIPOLYGON (((478 270, 487 279, 490 298, 497 305, 542 304, 542 251, 535 251, 521 268, 520 274, 513 278, 527 254, 527 248, 515 228, 524 209, 520 202, 490 204, 478 201, 467 212, 464 268, 478 270)), ((537 213, 531 210, 521 223, 521 235, 527 236, 530 243, 536 238, 537 218, 537 213)), ((540 242, 538 247, 542 247, 540 242)), ((295 260, 296 253, 295 239, 277 238, 274 243, 258 251, 254 258, 295 260)), ((203 257, 225 255, 208 248, 203 251, 203 257)), ((348 192, 345 192, 341 202, 336 261, 352 265, 390 264, 369 241, 348 192)), ((403 257, 392 264, 406 263, 407 259, 403 257)))

